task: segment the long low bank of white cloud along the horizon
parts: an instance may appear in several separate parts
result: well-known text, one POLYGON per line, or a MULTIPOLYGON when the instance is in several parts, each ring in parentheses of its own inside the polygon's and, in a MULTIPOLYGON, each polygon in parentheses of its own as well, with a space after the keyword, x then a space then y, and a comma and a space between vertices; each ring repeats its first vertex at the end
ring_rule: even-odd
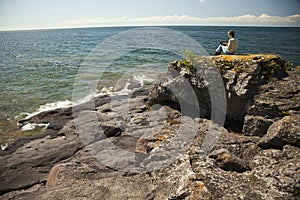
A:
MULTIPOLYGON (((100 26, 153 26, 153 25, 223 25, 223 26, 300 26, 300 14, 291 16, 270 16, 267 14, 242 15, 234 17, 193 17, 189 15, 153 16, 153 17, 117 17, 117 18, 94 18, 64 21, 57 24, 48 24, 44 27, 32 28, 72 28, 72 27, 100 27, 100 26)), ((4 30, 5 27, 0 27, 4 30)), ((7 28, 6 28, 7 29, 7 28)), ((18 28, 15 28, 18 29, 18 28)))

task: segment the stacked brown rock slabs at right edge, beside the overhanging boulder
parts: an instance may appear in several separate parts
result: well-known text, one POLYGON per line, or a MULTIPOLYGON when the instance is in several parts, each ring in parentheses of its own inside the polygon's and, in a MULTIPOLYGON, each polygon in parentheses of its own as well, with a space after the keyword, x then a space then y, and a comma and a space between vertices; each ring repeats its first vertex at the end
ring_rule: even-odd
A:
POLYGON ((300 114, 300 67, 282 79, 271 78, 259 88, 248 107, 243 133, 264 136, 272 122, 300 114))

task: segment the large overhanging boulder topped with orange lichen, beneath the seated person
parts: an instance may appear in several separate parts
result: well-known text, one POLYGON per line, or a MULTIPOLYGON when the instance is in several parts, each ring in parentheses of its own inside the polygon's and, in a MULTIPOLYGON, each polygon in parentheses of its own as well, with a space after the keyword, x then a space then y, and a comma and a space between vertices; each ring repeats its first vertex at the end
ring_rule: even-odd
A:
MULTIPOLYGON (((226 125, 241 132, 247 109, 260 87, 271 78, 287 77, 287 65, 276 55, 217 56, 172 62, 168 73, 152 85, 149 103, 172 105, 184 109, 186 115, 209 119, 214 110, 226 112, 226 125), (226 100, 225 109, 216 103, 226 100)), ((259 133, 251 135, 264 134, 270 121, 263 121, 259 133)))

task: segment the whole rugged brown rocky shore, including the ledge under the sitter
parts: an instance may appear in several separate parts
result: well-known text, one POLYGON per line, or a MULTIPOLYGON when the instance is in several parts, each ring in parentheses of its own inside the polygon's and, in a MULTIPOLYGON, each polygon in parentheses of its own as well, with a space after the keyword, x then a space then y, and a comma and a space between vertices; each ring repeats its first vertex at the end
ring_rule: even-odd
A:
POLYGON ((175 61, 149 90, 22 120, 49 125, 0 151, 0 199, 300 199, 289 67, 276 55, 175 61))

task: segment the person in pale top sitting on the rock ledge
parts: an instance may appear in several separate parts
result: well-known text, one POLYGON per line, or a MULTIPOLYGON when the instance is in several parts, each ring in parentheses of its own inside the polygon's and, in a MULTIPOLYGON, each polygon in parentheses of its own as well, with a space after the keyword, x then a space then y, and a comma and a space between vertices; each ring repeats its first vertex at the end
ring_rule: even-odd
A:
POLYGON ((222 52, 227 55, 234 55, 238 48, 238 40, 234 38, 234 31, 228 31, 228 42, 220 42, 213 56, 220 55, 222 52))

